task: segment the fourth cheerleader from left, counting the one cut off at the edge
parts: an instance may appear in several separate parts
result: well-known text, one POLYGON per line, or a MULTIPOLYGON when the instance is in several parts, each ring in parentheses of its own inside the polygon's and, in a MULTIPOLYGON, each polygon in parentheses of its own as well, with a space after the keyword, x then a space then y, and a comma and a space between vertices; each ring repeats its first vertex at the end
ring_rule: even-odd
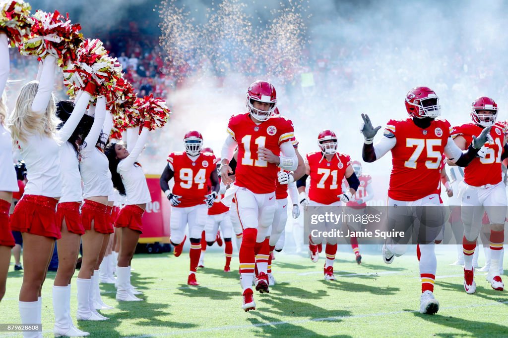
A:
POLYGON ((103 153, 105 144, 102 137, 102 127, 106 118, 106 99, 97 98, 97 106, 91 107, 80 123, 83 135, 86 135, 82 158, 79 163, 81 179, 83 180, 83 199, 81 218, 84 235, 81 236, 83 244, 83 259, 81 269, 76 280, 78 288, 78 320, 107 320, 94 305, 95 285, 98 275, 94 270, 99 262, 99 256, 108 241, 109 231, 106 221, 108 196, 112 193, 111 174, 108 169, 108 159, 103 153))

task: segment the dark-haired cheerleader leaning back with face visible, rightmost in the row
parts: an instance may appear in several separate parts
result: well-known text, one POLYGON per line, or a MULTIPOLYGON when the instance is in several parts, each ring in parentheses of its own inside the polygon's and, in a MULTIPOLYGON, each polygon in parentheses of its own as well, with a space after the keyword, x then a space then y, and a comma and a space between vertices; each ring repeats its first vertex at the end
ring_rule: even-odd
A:
POLYGON ((110 143, 106 147, 106 156, 109 160, 109 168, 112 173, 113 185, 120 195, 125 197, 125 206, 120 209, 115 221, 115 227, 121 228, 120 252, 116 275, 118 288, 116 291, 117 301, 142 301, 132 293, 131 286, 131 260, 138 244, 139 236, 143 231, 141 216, 146 203, 151 202, 150 192, 141 165, 137 160, 143 151, 150 122, 145 121, 141 135, 138 137, 137 129, 134 129, 134 137, 131 144, 135 144, 129 152, 119 143, 110 143), (137 140, 134 140, 137 138, 137 140))

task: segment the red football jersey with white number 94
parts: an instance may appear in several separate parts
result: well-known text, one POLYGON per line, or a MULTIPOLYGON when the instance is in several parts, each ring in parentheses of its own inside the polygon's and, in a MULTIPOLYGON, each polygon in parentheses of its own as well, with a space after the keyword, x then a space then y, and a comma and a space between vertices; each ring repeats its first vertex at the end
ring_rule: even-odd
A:
POLYGON ((193 162, 186 153, 174 152, 168 156, 168 166, 175 173, 172 193, 182 197, 178 208, 204 204, 205 195, 209 193, 208 178, 217 170, 215 156, 201 153, 193 162))

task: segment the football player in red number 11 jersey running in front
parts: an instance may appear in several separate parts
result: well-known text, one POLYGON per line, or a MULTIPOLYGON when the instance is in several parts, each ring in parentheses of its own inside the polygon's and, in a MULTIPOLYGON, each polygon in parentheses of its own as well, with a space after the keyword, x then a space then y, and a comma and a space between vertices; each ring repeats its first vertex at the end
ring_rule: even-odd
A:
POLYGON ((246 100, 248 112, 234 115, 229 120, 229 135, 220 156, 220 171, 223 183, 231 184, 233 181, 229 174, 233 171, 229 163, 238 145, 235 185, 230 190, 235 193, 238 218, 243 228, 240 282, 242 308, 249 311, 256 309, 251 289, 256 261, 259 270, 256 290, 269 291, 266 271, 270 250, 267 237, 276 209, 277 167, 295 170, 298 158, 290 142, 293 123, 283 117, 272 117, 277 102, 273 85, 266 81, 252 83, 246 100), (260 259, 256 260, 256 255, 260 259))

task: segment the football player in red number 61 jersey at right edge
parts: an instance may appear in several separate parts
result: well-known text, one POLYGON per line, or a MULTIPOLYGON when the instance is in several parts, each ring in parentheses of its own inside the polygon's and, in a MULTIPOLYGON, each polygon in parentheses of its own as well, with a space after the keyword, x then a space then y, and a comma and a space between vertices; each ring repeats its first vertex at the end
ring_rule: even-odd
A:
POLYGON ((471 104, 472 122, 453 128, 452 137, 461 149, 466 149, 473 135, 486 128, 490 139, 480 149, 478 157, 464 169, 464 181, 460 184, 461 213, 464 224, 464 289, 476 291, 474 282, 473 253, 482 229, 482 218, 487 212, 490 220, 490 269, 487 281, 494 290, 502 291, 499 260, 504 241, 506 217, 506 191, 502 180, 501 162, 508 157, 508 145, 503 128, 497 124, 497 104, 490 97, 479 97, 471 104))

